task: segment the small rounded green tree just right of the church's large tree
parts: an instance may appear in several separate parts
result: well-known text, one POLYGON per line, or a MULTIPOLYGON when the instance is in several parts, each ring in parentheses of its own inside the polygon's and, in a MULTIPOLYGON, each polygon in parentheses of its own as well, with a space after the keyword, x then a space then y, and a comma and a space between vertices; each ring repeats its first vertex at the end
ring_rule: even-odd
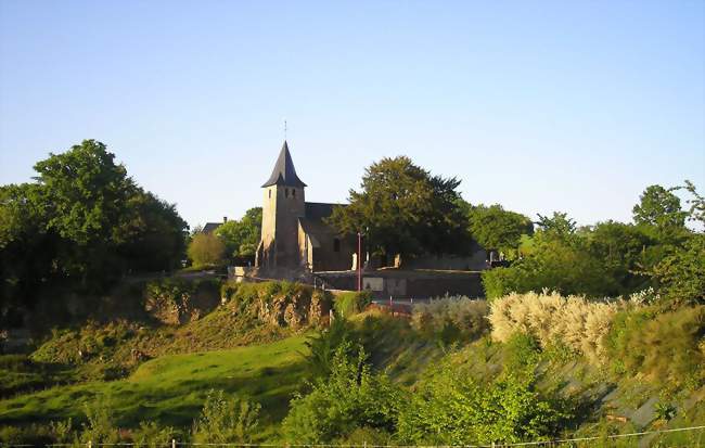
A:
POLYGON ((499 204, 471 206, 467 216, 473 238, 486 249, 501 251, 510 258, 516 255, 522 235, 534 233, 529 218, 499 204))

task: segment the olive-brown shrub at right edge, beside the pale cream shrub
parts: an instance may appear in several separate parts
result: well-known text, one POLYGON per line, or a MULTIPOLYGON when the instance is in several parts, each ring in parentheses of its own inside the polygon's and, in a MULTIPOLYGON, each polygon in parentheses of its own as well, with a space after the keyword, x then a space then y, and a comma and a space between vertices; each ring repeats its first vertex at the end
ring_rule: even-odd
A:
POLYGON ((641 373, 671 386, 705 381, 705 306, 657 313, 655 308, 623 311, 604 345, 616 373, 641 373))

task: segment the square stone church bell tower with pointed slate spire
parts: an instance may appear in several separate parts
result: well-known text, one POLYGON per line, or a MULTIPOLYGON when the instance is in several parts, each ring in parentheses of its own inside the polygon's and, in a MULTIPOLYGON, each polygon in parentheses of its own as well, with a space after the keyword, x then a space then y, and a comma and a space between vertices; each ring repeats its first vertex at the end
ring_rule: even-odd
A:
POLYGON ((272 175, 261 188, 261 240, 255 264, 265 269, 296 269, 300 266, 298 218, 305 216, 306 183, 296 176, 285 140, 272 175))

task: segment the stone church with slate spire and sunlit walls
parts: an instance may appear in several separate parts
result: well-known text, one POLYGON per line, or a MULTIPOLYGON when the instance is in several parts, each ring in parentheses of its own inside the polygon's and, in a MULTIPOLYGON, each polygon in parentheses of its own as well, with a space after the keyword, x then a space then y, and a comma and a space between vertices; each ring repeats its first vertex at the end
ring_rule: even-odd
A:
POLYGON ((337 204, 306 202, 306 183, 296 175, 286 141, 261 185, 261 240, 255 266, 274 271, 357 269, 357 239, 344 236, 324 219, 337 204))

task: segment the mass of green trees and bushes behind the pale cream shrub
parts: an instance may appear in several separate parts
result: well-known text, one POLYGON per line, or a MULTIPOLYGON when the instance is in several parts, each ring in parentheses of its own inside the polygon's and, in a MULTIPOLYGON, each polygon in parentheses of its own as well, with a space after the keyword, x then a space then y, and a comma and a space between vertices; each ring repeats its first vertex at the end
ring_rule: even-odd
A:
POLYGON ((487 296, 549 289, 615 297, 653 286, 675 305, 702 303, 705 243, 685 221, 700 222, 703 202, 692 183, 681 189, 694 197, 689 210, 671 192, 677 189, 651 185, 634 206, 633 225, 577 228, 565 214, 539 216, 537 232, 522 241, 520 259, 483 273, 487 296))

